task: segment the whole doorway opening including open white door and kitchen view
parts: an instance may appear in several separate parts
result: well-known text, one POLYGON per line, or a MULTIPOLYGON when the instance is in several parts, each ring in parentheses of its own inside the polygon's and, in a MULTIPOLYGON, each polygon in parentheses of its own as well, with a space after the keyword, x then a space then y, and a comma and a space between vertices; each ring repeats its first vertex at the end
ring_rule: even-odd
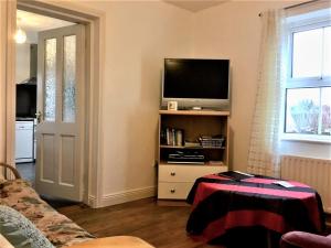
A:
POLYGON ((85 26, 17 18, 17 168, 39 194, 82 202, 85 26))

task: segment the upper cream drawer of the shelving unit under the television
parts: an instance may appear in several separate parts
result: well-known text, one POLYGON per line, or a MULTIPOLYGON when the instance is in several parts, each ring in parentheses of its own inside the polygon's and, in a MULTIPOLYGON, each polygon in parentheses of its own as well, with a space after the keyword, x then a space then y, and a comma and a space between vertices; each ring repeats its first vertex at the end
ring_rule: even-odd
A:
POLYGON ((160 165, 160 182, 190 182, 193 183, 203 175, 220 173, 227 170, 227 166, 211 165, 160 165))

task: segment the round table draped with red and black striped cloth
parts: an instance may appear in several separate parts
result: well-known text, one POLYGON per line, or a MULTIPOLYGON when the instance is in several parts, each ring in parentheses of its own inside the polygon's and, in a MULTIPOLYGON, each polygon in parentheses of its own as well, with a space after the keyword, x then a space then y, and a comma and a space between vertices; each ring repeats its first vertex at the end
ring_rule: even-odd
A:
POLYGON ((299 182, 293 187, 277 179, 255 175, 242 181, 221 174, 195 181, 188 203, 193 204, 186 231, 210 242, 237 227, 263 227, 278 234, 289 230, 320 233, 324 229, 319 194, 299 182))

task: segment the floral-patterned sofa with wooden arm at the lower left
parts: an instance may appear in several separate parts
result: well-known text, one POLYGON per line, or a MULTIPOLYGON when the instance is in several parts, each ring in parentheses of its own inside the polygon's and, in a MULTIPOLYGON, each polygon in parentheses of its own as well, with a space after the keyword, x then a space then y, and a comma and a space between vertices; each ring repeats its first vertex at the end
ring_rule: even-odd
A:
POLYGON ((0 163, 0 168, 6 169, 4 175, 10 174, 8 173, 9 170, 14 177, 11 180, 0 179, 0 206, 14 209, 29 219, 28 222, 31 222, 38 231, 44 235, 54 247, 152 247, 137 237, 94 237, 41 200, 38 193, 31 187, 30 183, 22 180, 14 168, 3 163, 0 163))

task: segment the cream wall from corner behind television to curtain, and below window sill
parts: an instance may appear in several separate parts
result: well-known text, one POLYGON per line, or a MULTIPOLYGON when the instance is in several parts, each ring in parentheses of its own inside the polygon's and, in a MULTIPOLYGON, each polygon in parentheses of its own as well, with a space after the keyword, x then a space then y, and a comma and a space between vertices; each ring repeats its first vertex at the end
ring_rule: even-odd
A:
MULTIPOLYGON (((234 1, 195 15, 194 55, 228 57, 232 62, 231 161, 236 170, 246 171, 247 166, 261 31, 258 13, 291 4, 289 1, 234 1)), ((329 144, 285 141, 282 147, 291 154, 331 158, 329 144)))

